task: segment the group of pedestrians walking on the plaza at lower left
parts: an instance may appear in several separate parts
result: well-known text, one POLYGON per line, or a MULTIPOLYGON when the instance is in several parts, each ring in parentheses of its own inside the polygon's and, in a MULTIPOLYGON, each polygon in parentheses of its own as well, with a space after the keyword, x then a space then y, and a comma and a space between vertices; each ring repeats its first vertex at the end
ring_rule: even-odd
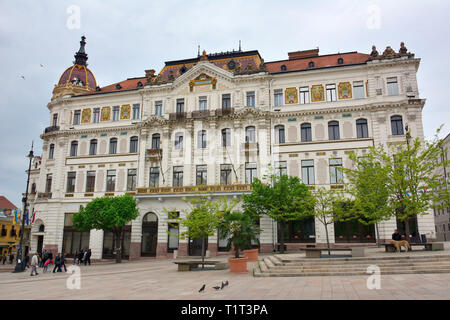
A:
MULTIPOLYGON (((91 249, 81 249, 80 252, 75 252, 73 256, 73 264, 81 264, 84 262, 84 265, 89 263, 91 265, 91 249)), ((62 272, 62 268, 64 268, 64 272, 67 272, 66 268, 66 257, 64 256, 64 253, 58 253, 56 254, 55 258, 53 259, 53 253, 51 251, 47 252, 47 250, 44 250, 44 252, 40 253, 37 252, 33 255, 31 258, 31 276, 37 275, 37 267, 43 268, 42 272, 46 273, 48 272, 48 266, 50 264, 53 264, 53 273, 55 272, 62 272)), ((28 261, 27 261, 28 265, 28 261)))

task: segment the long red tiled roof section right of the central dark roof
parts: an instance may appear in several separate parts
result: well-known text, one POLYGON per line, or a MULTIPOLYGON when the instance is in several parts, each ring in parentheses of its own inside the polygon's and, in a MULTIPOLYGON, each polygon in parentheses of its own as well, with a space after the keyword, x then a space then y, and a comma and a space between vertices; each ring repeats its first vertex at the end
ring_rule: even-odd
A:
POLYGON ((267 62, 266 67, 270 73, 283 72, 283 70, 281 70, 282 65, 286 66, 285 71, 311 70, 317 68, 337 67, 337 66, 365 63, 367 62, 369 57, 370 57, 369 54, 349 52, 349 53, 339 53, 295 60, 267 62), (339 58, 342 58, 344 60, 343 64, 338 64, 339 58), (309 63, 311 61, 314 62, 314 68, 309 68, 309 63))

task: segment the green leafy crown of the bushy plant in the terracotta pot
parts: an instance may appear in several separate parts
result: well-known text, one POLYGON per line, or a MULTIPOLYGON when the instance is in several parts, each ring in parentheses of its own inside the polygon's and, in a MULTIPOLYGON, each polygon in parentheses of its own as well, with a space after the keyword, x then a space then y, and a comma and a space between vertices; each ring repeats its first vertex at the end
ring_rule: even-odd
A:
POLYGON ((248 214, 235 211, 225 214, 219 223, 221 239, 227 239, 227 250, 234 247, 234 257, 239 258, 239 250, 247 249, 253 240, 259 243, 261 229, 248 214))

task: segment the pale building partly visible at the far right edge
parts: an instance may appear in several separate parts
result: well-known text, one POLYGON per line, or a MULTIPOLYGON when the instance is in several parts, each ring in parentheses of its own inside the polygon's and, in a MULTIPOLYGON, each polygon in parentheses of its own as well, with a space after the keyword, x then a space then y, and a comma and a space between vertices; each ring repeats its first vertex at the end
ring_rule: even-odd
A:
MULTIPOLYGON (((444 138, 444 145, 442 146, 443 155, 441 162, 448 160, 448 152, 450 150, 450 134, 444 138)), ((439 174, 445 179, 445 186, 448 188, 450 184, 450 171, 448 167, 444 165, 440 166, 436 170, 436 174, 439 174)), ((436 230, 436 239, 439 241, 450 241, 450 208, 435 209, 434 221, 436 230)))

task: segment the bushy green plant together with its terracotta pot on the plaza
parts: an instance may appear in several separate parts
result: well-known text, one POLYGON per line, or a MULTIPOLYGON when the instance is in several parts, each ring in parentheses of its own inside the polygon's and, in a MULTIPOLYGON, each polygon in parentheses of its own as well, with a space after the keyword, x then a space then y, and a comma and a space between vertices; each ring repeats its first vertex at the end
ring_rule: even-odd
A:
MULTIPOLYGON (((252 240, 259 241, 258 235, 261 230, 250 215, 238 211, 226 214, 219 224, 219 229, 221 238, 228 240, 227 250, 234 248, 234 258, 228 259, 230 272, 246 273, 249 259, 247 256, 239 257, 239 250, 251 247, 252 240)), ((255 250, 257 253, 258 249, 255 250)))

